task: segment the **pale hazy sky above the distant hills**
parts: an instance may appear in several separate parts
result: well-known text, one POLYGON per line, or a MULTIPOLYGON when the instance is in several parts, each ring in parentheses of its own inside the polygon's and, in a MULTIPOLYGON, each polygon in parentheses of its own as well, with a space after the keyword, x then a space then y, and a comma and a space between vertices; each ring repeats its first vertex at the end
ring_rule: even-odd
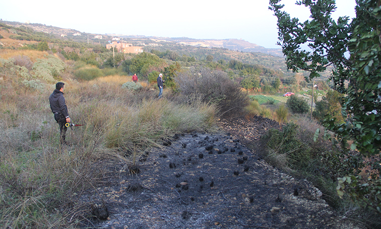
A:
MULTIPOLYGON (((40 23, 94 34, 196 39, 243 39, 265 48, 276 45, 276 17, 268 0, 46 1, 2 0, 0 19, 40 23)), ((301 21, 308 9, 283 0, 283 10, 301 21)), ((334 17, 355 16, 355 0, 336 0, 334 17)))

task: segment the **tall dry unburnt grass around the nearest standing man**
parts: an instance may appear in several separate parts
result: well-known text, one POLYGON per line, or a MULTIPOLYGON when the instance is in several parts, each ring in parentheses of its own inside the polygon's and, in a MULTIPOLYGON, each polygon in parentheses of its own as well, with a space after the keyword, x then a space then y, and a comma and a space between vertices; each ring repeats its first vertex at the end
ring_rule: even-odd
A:
POLYGON ((59 144, 47 99, 53 85, 45 84, 44 92, 0 91, 2 98, 8 93, 24 98, 0 104, 1 228, 80 226, 92 208, 90 201, 78 206, 77 200, 84 190, 96 189, 115 164, 137 173, 139 160, 149 156, 151 147, 163 147, 163 140, 215 128, 216 104, 158 100, 148 89, 133 93, 122 88, 128 80, 102 78, 65 83, 70 117, 74 124, 84 124, 68 129, 70 145, 59 144))

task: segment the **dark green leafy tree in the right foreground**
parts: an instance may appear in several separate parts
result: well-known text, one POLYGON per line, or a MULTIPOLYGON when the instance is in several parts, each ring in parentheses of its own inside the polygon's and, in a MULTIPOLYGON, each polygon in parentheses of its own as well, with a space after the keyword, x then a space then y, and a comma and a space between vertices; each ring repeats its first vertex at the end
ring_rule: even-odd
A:
MULTIPOLYGON (((331 79, 335 89, 343 94, 341 113, 344 123, 326 116, 324 125, 336 133, 336 138, 362 155, 379 154, 381 148, 381 1, 356 0, 356 17, 339 17, 334 0, 302 0, 297 5, 310 9, 310 20, 299 22, 282 11, 280 0, 270 0, 269 9, 278 18, 278 44, 286 56, 288 69, 310 72, 307 80, 319 76, 333 66, 331 79), (307 45, 309 49, 301 49, 307 45), (346 55, 348 54, 348 55, 346 55)), ((335 138, 332 138, 333 140, 335 138)), ((374 160, 374 159, 373 159, 374 160)), ((341 162, 340 162, 341 163, 341 162)), ((358 163, 364 166, 363 162, 358 163)), ((351 172, 357 173, 353 169, 351 172)), ((339 179, 337 192, 346 191, 362 206, 370 206, 381 214, 381 170, 379 161, 372 166, 375 173, 367 179, 348 174, 339 179)), ((347 171, 347 173, 350 173, 347 171)))

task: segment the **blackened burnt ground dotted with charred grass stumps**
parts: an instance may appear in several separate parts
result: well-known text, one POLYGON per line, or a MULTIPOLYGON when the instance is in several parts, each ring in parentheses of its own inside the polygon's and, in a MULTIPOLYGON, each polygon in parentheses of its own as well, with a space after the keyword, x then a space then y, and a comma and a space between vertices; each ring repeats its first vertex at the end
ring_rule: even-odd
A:
POLYGON ((361 228, 337 214, 306 180, 261 159, 261 117, 221 121, 218 134, 174 136, 136 167, 115 164, 82 199, 93 228, 361 228), (249 150, 246 145, 251 144, 249 150))

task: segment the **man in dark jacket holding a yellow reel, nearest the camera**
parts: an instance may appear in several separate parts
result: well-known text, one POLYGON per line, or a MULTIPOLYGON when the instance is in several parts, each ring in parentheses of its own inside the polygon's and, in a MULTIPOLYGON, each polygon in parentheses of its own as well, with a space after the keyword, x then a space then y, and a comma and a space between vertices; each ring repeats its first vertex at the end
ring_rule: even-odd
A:
POLYGON ((49 96, 50 108, 54 113, 54 119, 60 125, 60 143, 66 144, 66 123, 70 123, 70 117, 68 113, 68 107, 64 98, 64 85, 63 82, 56 83, 56 89, 49 96))

